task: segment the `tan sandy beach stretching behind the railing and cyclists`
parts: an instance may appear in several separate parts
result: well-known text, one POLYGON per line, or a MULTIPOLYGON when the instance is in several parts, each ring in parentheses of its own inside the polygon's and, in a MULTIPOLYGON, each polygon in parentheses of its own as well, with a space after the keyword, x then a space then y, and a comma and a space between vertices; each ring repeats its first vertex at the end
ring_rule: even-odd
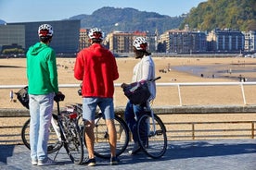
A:
MULTIPOLYGON (((156 65, 156 76, 160 76, 159 82, 180 83, 180 82, 238 82, 239 75, 250 79, 255 79, 256 59, 241 57, 224 57, 224 58, 199 58, 199 57, 153 57, 156 65), (190 67, 184 71, 174 68, 190 67), (195 68, 196 67, 196 68, 195 68), (198 67, 207 67, 201 69, 198 67), (169 69, 171 68, 171 69, 169 69), (163 70, 166 72, 162 72, 163 70), (168 71, 169 69, 169 71, 168 71), (229 72, 230 70, 231 73, 229 72), (236 70, 236 71, 235 71, 236 70), (237 70, 240 70, 237 71, 237 70), (214 79, 212 74, 218 76, 214 79), (203 77, 201 77, 203 74, 203 77)), ((59 84, 79 84, 80 81, 73 78, 73 66, 75 58, 58 58, 58 82, 59 84)), ((138 60, 134 58, 117 58, 120 78, 115 83, 129 83, 132 79, 132 70, 138 60)), ((26 85, 26 59, 25 58, 9 58, 0 59, 0 84, 1 85, 26 85)), ((81 103, 82 99, 77 95, 76 88, 60 88, 65 95, 65 101, 61 106, 67 103, 81 103)), ((10 89, 0 89, 0 108, 20 108, 24 107, 19 103, 9 102, 10 89)), ((19 91, 13 89, 13 91, 19 91)), ((180 89, 184 105, 242 105, 243 98, 240 86, 196 86, 181 87, 180 89)), ((256 103, 256 88, 252 85, 245 87, 245 95, 247 103, 256 103)), ((16 97, 14 95, 14 97, 16 97)), ((120 87, 115 89, 115 106, 125 106, 127 99, 122 93, 120 87)), ((176 86, 158 87, 157 98, 153 103, 154 106, 179 105, 178 90, 176 86)), ((205 114, 205 115, 160 115, 165 123, 181 122, 181 121, 236 121, 236 120, 256 120, 255 114, 205 114)), ((1 126, 22 126, 27 117, 3 117, 0 118, 1 126)), ((167 124, 166 124, 167 126, 167 124)), ((203 128, 226 128, 227 125, 205 125, 203 128)), ((232 125, 239 128, 248 128, 249 125, 232 125)), ((167 126, 167 129, 188 129, 189 125, 167 126)), ((198 126, 200 128, 200 126, 198 126)), ((249 126, 250 128, 250 126, 249 126)), ((20 133, 20 129, 14 132, 13 128, 1 130, 1 134, 20 133)), ((232 132, 236 133, 236 132, 232 132)))

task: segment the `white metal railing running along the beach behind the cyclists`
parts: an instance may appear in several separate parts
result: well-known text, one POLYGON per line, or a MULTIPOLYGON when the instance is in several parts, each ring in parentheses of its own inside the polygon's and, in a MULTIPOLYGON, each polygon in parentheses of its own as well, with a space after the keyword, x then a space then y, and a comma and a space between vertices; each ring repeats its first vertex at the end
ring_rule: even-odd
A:
MULTIPOLYGON (((115 83, 115 87, 120 87, 121 83, 115 83)), ((183 105, 181 90, 182 86, 240 86, 243 103, 247 104, 244 85, 256 85, 256 81, 251 82, 180 82, 180 83, 157 83, 157 87, 175 86, 178 90, 179 105, 183 105)), ((21 89, 25 85, 0 85, 0 89, 21 89)), ((79 88, 80 84, 59 84, 59 88, 79 88)))

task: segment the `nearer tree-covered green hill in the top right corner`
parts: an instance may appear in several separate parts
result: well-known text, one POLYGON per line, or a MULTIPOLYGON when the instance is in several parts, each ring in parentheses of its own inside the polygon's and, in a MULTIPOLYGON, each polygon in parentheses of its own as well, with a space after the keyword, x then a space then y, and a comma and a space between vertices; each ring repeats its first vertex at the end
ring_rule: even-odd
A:
POLYGON ((197 30, 256 30, 255 18, 255 0, 208 0, 190 10, 180 29, 188 24, 197 30))

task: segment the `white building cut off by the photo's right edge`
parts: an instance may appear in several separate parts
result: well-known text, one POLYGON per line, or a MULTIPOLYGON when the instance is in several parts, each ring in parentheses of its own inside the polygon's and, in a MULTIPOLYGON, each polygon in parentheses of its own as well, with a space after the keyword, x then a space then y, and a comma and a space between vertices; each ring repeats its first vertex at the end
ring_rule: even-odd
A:
POLYGON ((245 36, 245 52, 256 52, 256 30, 242 33, 245 36))

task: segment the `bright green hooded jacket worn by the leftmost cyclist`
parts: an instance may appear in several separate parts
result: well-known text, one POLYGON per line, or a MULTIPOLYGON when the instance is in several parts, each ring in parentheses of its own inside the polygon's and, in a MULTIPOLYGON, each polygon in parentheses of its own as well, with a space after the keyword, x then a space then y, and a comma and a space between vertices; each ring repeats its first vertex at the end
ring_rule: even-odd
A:
POLYGON ((29 94, 58 92, 55 51, 43 42, 32 45, 27 52, 29 94))

